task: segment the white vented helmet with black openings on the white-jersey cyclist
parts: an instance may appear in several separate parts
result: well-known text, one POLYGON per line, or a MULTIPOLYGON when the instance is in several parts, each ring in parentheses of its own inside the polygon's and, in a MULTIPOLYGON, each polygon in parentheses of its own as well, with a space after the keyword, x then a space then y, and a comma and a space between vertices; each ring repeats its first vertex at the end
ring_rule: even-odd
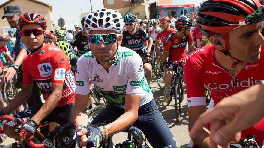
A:
POLYGON ((87 33, 92 30, 114 30, 122 34, 125 27, 122 15, 112 9, 100 9, 89 13, 84 22, 87 33))

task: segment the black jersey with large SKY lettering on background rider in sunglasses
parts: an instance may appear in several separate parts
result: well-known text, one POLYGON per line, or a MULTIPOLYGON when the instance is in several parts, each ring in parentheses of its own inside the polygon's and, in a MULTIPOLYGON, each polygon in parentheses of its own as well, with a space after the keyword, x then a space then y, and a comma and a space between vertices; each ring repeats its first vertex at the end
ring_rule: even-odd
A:
POLYGON ((128 30, 123 31, 123 40, 122 40, 122 45, 125 45, 127 48, 131 50, 140 50, 143 48, 144 42, 143 42, 143 37, 146 40, 149 40, 150 36, 144 29, 141 28, 135 28, 136 32, 132 36, 128 30))

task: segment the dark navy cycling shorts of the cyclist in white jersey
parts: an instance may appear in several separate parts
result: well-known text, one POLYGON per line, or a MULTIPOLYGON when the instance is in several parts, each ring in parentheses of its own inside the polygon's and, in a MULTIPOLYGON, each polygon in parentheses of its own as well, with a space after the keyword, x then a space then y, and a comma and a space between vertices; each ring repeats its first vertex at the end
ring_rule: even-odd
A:
MULTIPOLYGON (((124 113, 125 109, 108 104, 92 123, 104 123, 105 120, 113 122, 124 113)), ((154 99, 139 107, 138 118, 133 126, 145 134, 153 147, 178 148, 175 137, 158 110, 154 99)))

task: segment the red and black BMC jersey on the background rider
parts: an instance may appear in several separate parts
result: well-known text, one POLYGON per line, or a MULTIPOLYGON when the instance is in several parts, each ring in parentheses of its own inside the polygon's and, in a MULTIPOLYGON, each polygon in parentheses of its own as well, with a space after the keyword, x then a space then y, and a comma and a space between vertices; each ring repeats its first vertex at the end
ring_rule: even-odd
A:
POLYGON ((164 53, 169 53, 170 61, 179 61, 187 57, 186 46, 193 46, 193 35, 179 37, 175 33, 171 33, 165 43, 164 53))

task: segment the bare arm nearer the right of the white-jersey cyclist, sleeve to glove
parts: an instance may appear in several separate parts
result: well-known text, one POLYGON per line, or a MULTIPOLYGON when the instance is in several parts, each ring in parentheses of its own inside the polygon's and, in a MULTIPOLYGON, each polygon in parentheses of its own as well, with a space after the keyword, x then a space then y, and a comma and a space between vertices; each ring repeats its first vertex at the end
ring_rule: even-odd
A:
MULTIPOLYGON (((136 122, 140 98, 141 96, 138 95, 126 94, 125 113, 117 118, 114 122, 106 125, 108 135, 114 135, 116 133, 122 132, 136 122)), ((104 130, 102 132, 105 137, 104 130)))

